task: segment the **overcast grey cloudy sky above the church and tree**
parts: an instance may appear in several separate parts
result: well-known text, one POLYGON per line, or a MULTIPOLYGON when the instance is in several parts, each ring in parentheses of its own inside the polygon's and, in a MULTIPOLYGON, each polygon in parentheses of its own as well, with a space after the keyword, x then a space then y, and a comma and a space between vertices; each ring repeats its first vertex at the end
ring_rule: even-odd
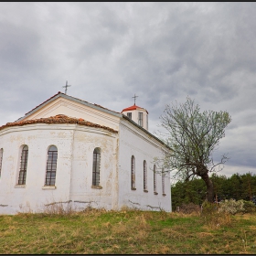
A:
POLYGON ((0 125, 65 92, 155 133, 165 105, 227 111, 221 172, 256 174, 256 3, 0 3, 0 125))

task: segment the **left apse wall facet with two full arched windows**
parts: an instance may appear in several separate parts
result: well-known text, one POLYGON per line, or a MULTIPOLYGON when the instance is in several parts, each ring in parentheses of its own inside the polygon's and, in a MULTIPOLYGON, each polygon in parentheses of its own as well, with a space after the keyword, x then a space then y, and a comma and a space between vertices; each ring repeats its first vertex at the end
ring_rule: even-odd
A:
POLYGON ((46 204, 69 200, 72 126, 32 124, 10 127, 0 132, 0 144, 4 148, 0 214, 40 211, 46 208, 46 204), (17 186, 19 152, 23 144, 28 146, 27 180, 25 186, 17 186), (56 189, 44 186, 48 147, 51 144, 58 148, 56 189))

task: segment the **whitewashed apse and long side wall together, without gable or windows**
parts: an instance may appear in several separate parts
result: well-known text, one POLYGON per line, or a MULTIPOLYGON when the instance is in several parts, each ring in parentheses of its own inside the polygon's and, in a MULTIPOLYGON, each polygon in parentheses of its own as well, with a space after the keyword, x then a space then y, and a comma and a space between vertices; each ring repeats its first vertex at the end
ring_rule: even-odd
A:
POLYGON ((150 134, 122 120, 120 133, 78 124, 28 124, 0 131, 4 149, 0 177, 0 214, 43 211, 45 205, 69 202, 74 209, 120 209, 123 206, 171 211, 170 181, 157 175, 154 194, 153 160, 161 146, 150 134), (21 146, 28 146, 26 186, 17 186, 21 146), (45 187, 48 147, 58 148, 56 187, 45 187), (101 189, 91 187, 93 150, 101 148, 101 189), (135 157, 135 187, 131 190, 131 157, 135 157), (148 193, 144 192, 144 160, 148 193))

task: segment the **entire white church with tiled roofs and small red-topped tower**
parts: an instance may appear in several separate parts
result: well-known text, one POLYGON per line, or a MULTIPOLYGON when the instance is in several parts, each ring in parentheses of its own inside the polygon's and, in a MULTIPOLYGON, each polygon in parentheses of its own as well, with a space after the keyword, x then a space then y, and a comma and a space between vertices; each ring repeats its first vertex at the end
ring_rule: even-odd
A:
POLYGON ((0 127, 0 214, 69 205, 171 211, 169 148, 137 105, 113 112, 59 91, 0 127))

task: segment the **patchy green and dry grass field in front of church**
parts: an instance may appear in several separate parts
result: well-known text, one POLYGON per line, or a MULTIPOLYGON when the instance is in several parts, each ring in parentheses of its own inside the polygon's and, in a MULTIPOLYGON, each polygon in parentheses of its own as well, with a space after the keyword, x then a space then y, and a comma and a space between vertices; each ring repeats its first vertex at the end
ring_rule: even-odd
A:
POLYGON ((255 254, 256 215, 122 210, 0 216, 1 254, 255 254))

